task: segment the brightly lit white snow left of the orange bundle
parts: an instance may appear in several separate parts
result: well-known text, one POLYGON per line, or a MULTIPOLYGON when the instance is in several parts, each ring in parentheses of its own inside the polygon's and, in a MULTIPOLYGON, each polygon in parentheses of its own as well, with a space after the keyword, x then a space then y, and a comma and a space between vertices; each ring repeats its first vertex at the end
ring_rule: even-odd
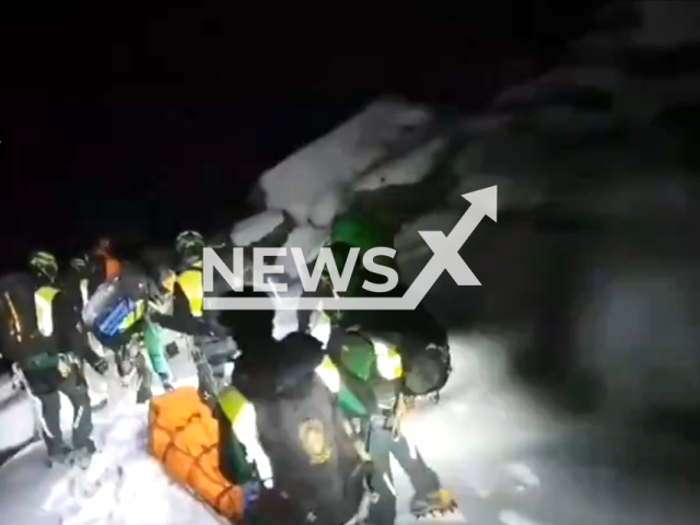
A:
POLYGON ((38 443, 4 465, 0 478, 2 523, 220 523, 174 486, 147 454, 143 410, 129 405, 120 407, 113 418, 96 429, 97 434, 105 434, 102 452, 84 474, 47 469, 38 443))

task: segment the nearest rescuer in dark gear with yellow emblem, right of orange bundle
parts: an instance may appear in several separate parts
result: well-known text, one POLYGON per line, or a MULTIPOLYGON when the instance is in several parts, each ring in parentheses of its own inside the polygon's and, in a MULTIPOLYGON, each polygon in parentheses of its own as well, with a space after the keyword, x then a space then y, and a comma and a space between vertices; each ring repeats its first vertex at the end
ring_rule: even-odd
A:
MULTIPOLYGON (((275 489, 289 494, 284 522, 364 523, 371 495, 365 464, 336 394, 318 375, 320 341, 299 331, 277 341, 272 299, 249 288, 236 293, 269 300, 267 310, 225 311, 220 322, 241 347, 232 385, 255 408, 275 489)), ((222 406, 235 419, 225 398, 222 406)))

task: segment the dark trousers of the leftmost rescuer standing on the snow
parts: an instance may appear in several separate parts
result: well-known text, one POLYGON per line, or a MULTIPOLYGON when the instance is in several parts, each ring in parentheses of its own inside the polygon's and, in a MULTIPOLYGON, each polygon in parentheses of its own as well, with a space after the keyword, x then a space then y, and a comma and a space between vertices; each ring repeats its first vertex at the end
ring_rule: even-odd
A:
POLYGON ((91 439, 93 427, 88 385, 84 381, 70 377, 60 383, 57 390, 37 395, 42 401, 42 435, 48 453, 56 454, 63 447, 59 393, 63 393, 73 406, 73 447, 94 451, 91 439))

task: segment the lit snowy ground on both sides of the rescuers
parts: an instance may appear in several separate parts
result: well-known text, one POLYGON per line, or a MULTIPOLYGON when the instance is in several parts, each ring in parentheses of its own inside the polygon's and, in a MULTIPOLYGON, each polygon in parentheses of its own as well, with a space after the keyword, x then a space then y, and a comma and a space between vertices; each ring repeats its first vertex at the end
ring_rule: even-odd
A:
MULTIPOLYGON (((573 424, 509 380, 501 340, 455 331, 451 343, 459 373, 440 406, 413 413, 406 433, 460 509, 441 520, 416 522, 407 513, 410 486, 395 465, 397 525, 695 523, 691 511, 698 509, 689 487, 667 482, 660 489, 653 478, 628 472, 622 459, 631 443, 633 450, 654 451, 634 459, 646 468, 693 457, 698 451, 679 447, 676 455, 662 455, 651 439, 638 444, 639 436, 573 424)), ((44 467, 40 445, 26 448, 0 469, 0 523, 220 524, 145 454, 144 430, 145 411, 131 401, 97 418, 101 453, 79 476, 44 467)))

